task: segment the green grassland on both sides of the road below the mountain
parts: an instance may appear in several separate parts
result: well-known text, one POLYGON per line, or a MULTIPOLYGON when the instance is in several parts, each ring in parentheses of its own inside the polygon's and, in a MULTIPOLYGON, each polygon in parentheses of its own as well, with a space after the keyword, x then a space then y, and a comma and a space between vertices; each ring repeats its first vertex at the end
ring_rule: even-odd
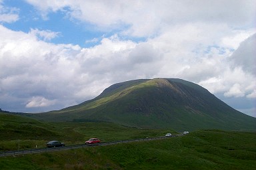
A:
MULTIPOLYGON (((177 134, 107 122, 45 123, 0 113, 0 151, 45 147, 57 139, 73 145, 177 134)), ((197 130, 188 135, 49 153, 0 157, 0 169, 256 169, 256 133, 197 130)))

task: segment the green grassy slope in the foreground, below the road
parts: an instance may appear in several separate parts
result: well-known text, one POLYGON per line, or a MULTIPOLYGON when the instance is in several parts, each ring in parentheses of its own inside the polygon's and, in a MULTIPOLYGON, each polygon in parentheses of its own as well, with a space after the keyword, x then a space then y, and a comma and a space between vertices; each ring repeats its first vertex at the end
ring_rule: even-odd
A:
POLYGON ((1 157, 0 169, 256 169, 256 133, 195 131, 155 141, 1 157))

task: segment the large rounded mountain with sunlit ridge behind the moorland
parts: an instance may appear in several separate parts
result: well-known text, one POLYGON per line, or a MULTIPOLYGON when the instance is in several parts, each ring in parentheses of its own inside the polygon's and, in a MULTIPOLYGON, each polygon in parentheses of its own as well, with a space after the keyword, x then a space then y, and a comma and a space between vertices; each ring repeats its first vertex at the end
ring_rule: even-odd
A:
POLYGON ((113 84, 93 100, 31 116, 51 122, 114 122, 139 128, 256 129, 256 118, 234 110, 205 88, 176 78, 113 84))

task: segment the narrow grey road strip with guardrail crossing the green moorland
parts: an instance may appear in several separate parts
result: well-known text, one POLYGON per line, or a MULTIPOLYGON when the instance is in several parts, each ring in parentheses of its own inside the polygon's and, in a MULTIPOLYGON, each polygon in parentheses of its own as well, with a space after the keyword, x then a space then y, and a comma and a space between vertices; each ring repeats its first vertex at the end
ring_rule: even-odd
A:
MULTIPOLYGON (((171 137, 175 137, 177 135, 172 135, 171 137)), ((119 140, 119 141, 106 141, 101 143, 94 143, 94 144, 81 144, 81 145, 67 145, 65 147, 45 147, 45 148, 39 148, 39 149, 24 149, 24 150, 16 150, 16 151, 0 151, 0 157, 6 157, 6 156, 15 156, 15 155, 25 155, 25 154, 31 154, 31 153, 43 153, 43 152, 49 152, 49 151, 62 151, 62 150, 68 150, 68 149, 77 149, 81 147, 95 147, 95 146, 104 146, 104 145, 115 145, 117 143, 128 143, 133 141, 149 141, 149 140, 155 140, 155 139, 165 139, 168 137, 150 137, 150 138, 139 138, 139 139, 127 139, 127 140, 119 140)))

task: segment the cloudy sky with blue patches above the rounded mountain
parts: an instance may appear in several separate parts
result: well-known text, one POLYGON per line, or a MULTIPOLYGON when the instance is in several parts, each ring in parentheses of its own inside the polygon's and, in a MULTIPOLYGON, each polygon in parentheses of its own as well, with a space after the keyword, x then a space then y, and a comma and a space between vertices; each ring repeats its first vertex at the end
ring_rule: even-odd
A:
POLYGON ((0 108, 46 112, 181 78, 256 117, 255 0, 0 0, 0 108))

